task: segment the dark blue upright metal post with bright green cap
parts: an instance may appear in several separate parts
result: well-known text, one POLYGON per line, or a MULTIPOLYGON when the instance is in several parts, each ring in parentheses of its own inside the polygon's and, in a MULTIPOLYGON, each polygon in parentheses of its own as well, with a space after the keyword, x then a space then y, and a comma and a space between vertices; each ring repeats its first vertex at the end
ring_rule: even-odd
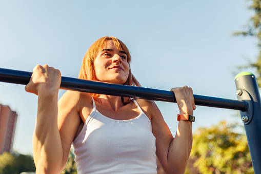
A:
POLYGON ((251 72, 236 75, 237 99, 249 103, 247 111, 240 111, 245 125, 249 151, 255 173, 261 173, 261 101, 257 82, 251 72))

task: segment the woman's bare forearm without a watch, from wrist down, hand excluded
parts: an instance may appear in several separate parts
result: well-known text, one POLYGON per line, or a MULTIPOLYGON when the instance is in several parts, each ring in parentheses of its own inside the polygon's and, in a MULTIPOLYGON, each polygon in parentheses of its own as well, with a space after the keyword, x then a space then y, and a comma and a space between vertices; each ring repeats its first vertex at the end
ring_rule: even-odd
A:
POLYGON ((57 96, 38 96, 33 158, 36 173, 59 173, 61 170, 63 146, 57 126, 57 96))

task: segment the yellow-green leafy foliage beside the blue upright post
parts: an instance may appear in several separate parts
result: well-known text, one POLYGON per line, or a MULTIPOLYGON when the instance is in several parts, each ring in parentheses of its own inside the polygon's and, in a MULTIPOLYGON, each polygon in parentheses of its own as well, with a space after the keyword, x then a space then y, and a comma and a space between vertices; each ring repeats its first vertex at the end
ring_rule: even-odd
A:
POLYGON ((254 173, 247 137, 238 128, 226 122, 199 128, 186 173, 254 173))

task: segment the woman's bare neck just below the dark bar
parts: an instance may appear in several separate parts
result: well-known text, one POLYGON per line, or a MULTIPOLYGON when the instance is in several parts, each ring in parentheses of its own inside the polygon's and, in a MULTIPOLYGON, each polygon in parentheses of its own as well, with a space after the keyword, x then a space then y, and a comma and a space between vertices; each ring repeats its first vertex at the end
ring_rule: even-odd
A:
POLYGON ((111 107, 113 110, 121 108, 125 105, 122 102, 121 96, 99 94, 94 100, 103 106, 111 107))

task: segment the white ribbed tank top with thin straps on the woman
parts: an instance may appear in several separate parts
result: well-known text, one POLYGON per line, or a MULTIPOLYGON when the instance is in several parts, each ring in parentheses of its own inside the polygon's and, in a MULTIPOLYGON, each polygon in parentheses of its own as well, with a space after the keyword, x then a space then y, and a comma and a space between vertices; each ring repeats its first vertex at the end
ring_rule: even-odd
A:
POLYGON ((95 106, 73 141, 78 174, 157 173, 155 137, 151 122, 140 114, 131 120, 114 120, 95 106))

